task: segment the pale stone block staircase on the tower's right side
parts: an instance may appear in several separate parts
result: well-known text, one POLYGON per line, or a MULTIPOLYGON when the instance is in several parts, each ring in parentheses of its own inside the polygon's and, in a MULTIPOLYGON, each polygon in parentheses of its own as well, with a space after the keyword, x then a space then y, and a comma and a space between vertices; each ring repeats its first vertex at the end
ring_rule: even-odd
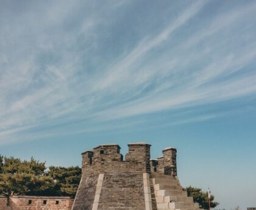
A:
POLYGON ((157 210, 198 210, 198 203, 193 202, 193 197, 188 197, 182 190, 177 177, 170 175, 153 175, 155 200, 157 210))

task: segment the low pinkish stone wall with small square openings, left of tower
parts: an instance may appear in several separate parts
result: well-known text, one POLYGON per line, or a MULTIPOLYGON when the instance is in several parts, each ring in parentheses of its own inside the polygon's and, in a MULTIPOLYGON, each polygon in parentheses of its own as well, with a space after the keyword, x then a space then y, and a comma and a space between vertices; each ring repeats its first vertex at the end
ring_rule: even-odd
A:
POLYGON ((13 196, 7 206, 7 198, 0 197, 0 210, 70 210, 72 205, 69 197, 13 196))

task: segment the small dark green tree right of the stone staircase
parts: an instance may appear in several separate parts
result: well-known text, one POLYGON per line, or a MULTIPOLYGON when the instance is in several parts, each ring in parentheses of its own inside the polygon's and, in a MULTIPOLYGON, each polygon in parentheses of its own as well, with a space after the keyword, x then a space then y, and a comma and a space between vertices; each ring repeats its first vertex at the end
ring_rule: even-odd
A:
MULTIPOLYGON (((185 191, 188 192, 188 196, 193 197, 194 202, 199 203, 199 207, 201 209, 208 209, 208 194, 207 192, 203 192, 201 188, 197 187, 186 187, 184 188, 185 191)), ((219 205, 218 202, 213 201, 214 195, 210 195, 210 206, 211 208, 215 208, 219 205)))

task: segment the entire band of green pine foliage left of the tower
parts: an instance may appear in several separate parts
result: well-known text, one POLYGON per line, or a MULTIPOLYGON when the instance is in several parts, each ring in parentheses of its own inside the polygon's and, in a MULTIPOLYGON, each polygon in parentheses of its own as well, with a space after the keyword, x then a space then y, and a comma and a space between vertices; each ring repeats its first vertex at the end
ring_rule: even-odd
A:
POLYGON ((68 195, 74 197, 79 186, 81 169, 49 167, 45 162, 21 161, 0 155, 0 195, 68 195))

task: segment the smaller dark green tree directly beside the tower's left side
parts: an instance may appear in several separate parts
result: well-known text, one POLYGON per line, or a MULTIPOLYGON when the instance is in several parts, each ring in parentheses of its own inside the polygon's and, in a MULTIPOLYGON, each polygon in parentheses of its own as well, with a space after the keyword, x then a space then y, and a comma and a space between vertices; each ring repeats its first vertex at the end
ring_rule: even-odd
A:
POLYGON ((71 167, 49 167, 49 176, 55 181, 55 194, 76 196, 82 170, 79 166, 71 167))

